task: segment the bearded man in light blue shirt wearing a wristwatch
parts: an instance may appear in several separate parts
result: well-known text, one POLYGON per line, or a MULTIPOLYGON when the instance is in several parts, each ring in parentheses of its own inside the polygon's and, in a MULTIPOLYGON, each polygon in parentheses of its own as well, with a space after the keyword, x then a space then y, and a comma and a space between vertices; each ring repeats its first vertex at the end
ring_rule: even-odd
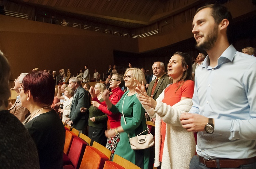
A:
POLYGON ((196 47, 208 56, 195 74, 193 106, 180 117, 187 131, 198 132, 191 169, 256 166, 256 58, 230 45, 231 21, 218 4, 194 16, 196 47))

